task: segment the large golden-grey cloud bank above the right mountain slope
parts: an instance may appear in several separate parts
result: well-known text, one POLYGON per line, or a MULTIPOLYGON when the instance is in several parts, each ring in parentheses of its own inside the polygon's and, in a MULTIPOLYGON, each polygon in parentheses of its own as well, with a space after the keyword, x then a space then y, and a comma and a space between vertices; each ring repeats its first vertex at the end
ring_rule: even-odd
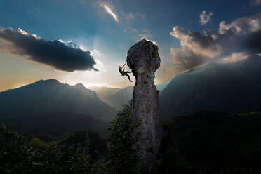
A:
POLYGON ((170 35, 180 40, 181 48, 170 48, 171 58, 163 67, 175 69, 174 76, 208 62, 236 62, 261 53, 261 13, 228 24, 222 21, 219 26, 218 33, 203 34, 173 27, 170 35))

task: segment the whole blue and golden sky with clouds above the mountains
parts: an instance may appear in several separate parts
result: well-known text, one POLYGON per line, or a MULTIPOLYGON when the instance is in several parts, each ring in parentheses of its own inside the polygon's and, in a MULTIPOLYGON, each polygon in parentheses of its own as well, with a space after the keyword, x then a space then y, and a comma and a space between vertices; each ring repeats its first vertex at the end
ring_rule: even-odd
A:
POLYGON ((133 85, 118 66, 142 39, 159 47, 156 83, 261 55, 261 0, 0 0, 0 91, 40 79, 133 85))

